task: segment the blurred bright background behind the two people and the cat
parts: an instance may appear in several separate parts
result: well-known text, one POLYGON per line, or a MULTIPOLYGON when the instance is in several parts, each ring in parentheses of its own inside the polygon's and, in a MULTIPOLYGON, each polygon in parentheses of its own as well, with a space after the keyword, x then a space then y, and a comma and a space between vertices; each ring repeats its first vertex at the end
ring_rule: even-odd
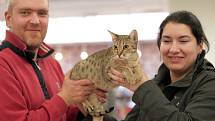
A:
MULTIPOLYGON (((110 30, 117 34, 138 31, 141 64, 152 78, 161 60, 156 45, 162 20, 176 10, 189 10, 202 22, 211 48, 207 59, 215 64, 214 0, 49 0, 50 20, 45 42, 55 49, 53 56, 66 73, 88 55, 110 47, 110 30)), ((7 0, 0 0, 0 41, 7 29, 4 11, 7 0)), ((132 92, 119 87, 114 90, 113 115, 123 119, 133 107, 132 92), (124 102, 124 103, 120 103, 124 102)))

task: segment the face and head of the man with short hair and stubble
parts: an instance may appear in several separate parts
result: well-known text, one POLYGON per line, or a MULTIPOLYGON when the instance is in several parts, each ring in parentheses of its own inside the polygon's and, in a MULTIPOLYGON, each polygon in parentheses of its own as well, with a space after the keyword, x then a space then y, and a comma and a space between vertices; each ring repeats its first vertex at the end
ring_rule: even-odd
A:
POLYGON ((14 0, 12 8, 5 13, 5 19, 10 31, 34 50, 46 36, 48 0, 14 0))

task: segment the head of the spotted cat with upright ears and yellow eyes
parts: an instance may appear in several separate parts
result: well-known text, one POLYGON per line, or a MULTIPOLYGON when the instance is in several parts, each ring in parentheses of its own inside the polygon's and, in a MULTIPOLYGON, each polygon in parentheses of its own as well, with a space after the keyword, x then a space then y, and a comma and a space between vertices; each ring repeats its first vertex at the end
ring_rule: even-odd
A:
POLYGON ((138 35, 136 30, 132 30, 129 35, 118 35, 111 31, 113 46, 112 50, 115 59, 136 60, 138 35))

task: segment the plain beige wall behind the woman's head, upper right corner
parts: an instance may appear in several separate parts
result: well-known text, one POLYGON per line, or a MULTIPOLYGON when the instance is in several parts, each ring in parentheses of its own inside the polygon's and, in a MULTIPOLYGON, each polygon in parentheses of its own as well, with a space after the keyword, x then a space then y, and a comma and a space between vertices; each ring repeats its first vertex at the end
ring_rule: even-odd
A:
POLYGON ((200 19, 210 43, 206 57, 215 65, 215 0, 169 0, 169 3, 170 12, 189 10, 200 19))

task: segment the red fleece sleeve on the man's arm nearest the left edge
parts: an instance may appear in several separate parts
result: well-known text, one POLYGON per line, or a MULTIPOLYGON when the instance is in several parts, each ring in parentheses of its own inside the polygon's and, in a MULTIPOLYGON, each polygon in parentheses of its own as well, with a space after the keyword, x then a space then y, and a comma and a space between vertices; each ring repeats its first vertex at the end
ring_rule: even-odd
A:
MULTIPOLYGON (((38 108, 32 110, 28 96, 23 96, 22 81, 16 79, 7 65, 7 61, 0 59, 0 121, 66 121, 68 106, 58 95, 44 102, 34 100, 38 108)), ((67 118, 75 121, 78 108, 71 106, 69 111, 67 118)))

